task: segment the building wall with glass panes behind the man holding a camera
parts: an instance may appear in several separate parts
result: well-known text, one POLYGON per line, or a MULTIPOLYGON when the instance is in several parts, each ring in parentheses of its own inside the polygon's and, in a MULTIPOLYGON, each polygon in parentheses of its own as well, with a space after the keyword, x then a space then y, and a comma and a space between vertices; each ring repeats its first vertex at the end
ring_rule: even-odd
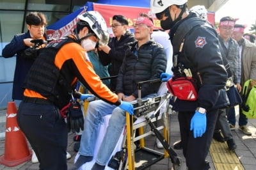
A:
MULTIPOLYGON (((0 0, 0 109, 12 100, 12 82, 16 56, 3 58, 2 50, 13 36, 28 31, 25 17, 30 12, 42 12, 47 26, 86 4, 84 0, 0 0)), ((97 2, 97 1, 90 1, 97 2)))

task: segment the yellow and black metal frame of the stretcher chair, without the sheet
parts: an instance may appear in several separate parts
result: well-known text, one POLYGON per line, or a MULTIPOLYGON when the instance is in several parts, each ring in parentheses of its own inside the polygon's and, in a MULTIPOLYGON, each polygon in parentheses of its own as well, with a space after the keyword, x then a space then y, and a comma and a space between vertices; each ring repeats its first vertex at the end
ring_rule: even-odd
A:
POLYGON ((126 113, 126 135, 125 143, 123 146, 124 157, 120 158, 120 166, 118 169, 145 169, 163 158, 170 157, 173 165, 173 169, 180 169, 182 160, 177 156, 177 153, 170 147, 170 133, 169 122, 168 122, 168 112, 170 109, 170 98, 172 95, 166 93, 159 97, 148 98, 147 100, 141 100, 141 86, 144 83, 154 83, 159 82, 160 79, 153 81, 143 81, 138 83, 139 97, 136 102, 134 102, 134 116, 126 113), (165 108, 161 116, 157 116, 161 108, 165 108), (153 123, 157 119, 163 120, 162 127, 156 127, 153 123), (138 120, 144 121, 138 121, 138 120), (145 125, 149 125, 151 132, 144 132, 145 125), (135 130, 139 130, 139 135, 135 136, 135 130), (163 129, 163 134, 159 130, 163 129), (152 150, 146 147, 145 137, 154 133, 159 139, 159 141, 164 146, 164 153, 156 150, 152 150), (140 141, 140 147, 134 148, 134 142, 140 141))

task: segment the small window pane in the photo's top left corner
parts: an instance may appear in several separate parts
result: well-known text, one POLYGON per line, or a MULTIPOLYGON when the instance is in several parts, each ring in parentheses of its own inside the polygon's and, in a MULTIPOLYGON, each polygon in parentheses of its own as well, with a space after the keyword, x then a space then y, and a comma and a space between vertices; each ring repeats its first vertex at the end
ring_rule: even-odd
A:
POLYGON ((0 9, 24 10, 26 0, 0 0, 0 9))

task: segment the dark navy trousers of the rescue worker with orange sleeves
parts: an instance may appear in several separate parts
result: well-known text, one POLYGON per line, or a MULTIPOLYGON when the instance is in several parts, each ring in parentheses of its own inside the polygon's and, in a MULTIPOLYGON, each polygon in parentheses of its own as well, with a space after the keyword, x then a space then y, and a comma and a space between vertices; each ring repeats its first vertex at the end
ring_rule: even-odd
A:
POLYGON ((67 127, 52 104, 21 102, 17 122, 40 162, 40 169, 67 169, 67 127))

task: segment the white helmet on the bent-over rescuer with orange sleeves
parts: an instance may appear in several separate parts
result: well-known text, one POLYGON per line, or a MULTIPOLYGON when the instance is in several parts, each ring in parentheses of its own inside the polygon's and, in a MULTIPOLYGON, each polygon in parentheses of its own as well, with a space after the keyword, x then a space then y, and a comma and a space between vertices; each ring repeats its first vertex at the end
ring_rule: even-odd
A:
POLYGON ((93 33, 99 38, 99 45, 107 45, 109 40, 108 27, 99 12, 90 11, 78 15, 78 19, 88 22, 93 33))

